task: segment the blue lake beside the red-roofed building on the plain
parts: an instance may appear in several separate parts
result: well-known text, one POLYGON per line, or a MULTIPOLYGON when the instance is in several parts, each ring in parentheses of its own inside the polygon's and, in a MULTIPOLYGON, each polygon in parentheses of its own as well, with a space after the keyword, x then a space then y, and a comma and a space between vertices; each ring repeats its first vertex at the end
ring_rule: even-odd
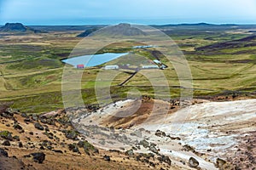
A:
POLYGON ((83 55, 79 57, 73 57, 70 59, 63 59, 62 62, 67 63, 69 65, 77 66, 84 65, 84 67, 102 65, 111 61, 113 59, 118 59, 119 57, 128 54, 128 53, 106 53, 106 54, 92 54, 92 55, 83 55))

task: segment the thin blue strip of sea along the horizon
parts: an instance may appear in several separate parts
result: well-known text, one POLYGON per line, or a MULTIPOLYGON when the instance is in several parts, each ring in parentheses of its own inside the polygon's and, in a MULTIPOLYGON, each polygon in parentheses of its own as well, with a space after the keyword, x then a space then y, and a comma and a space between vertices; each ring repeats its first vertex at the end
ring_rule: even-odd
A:
POLYGON ((255 24, 255 20, 245 19, 181 19, 181 18, 142 18, 139 19, 118 19, 118 18, 81 18, 81 19, 60 19, 60 20, 0 20, 0 25, 6 22, 20 22, 26 26, 85 26, 85 25, 116 25, 119 23, 131 23, 140 25, 167 25, 167 24, 255 24))

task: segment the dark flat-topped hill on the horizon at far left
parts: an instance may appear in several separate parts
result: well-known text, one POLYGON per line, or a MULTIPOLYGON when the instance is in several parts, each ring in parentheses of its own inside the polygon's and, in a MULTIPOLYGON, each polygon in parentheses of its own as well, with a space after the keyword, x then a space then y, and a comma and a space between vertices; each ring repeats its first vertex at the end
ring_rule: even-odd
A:
POLYGON ((28 26, 23 26, 21 23, 6 23, 4 26, 0 27, 2 32, 33 32, 40 33, 42 31, 34 30, 28 26))

